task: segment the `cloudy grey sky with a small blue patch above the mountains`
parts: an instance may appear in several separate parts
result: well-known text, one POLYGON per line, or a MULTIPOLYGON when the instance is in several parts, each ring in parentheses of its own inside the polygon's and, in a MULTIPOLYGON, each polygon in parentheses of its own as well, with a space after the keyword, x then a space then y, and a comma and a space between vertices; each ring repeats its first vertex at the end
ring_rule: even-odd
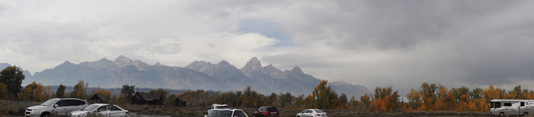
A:
POLYGON ((0 1, 0 63, 252 57, 400 93, 534 84, 534 1, 0 1))

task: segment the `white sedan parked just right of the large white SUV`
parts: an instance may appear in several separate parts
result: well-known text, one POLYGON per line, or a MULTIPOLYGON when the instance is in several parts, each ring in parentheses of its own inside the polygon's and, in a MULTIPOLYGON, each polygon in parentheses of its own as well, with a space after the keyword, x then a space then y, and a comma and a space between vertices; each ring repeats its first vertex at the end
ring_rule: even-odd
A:
POLYGON ((83 116, 129 117, 130 112, 113 104, 91 104, 82 110, 70 112, 71 117, 83 116))

